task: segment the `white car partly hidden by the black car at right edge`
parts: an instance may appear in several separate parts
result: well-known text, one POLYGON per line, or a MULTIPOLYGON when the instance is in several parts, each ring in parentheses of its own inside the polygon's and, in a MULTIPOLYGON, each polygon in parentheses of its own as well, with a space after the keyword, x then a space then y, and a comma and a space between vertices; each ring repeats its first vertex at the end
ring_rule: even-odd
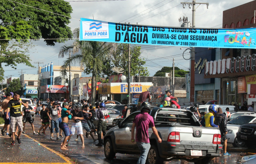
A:
POLYGON ((240 125, 254 122, 256 122, 256 114, 238 116, 229 121, 227 123, 228 134, 226 134, 228 143, 231 143, 234 147, 245 146, 244 142, 236 139, 236 132, 238 132, 238 128, 240 127, 240 125))

